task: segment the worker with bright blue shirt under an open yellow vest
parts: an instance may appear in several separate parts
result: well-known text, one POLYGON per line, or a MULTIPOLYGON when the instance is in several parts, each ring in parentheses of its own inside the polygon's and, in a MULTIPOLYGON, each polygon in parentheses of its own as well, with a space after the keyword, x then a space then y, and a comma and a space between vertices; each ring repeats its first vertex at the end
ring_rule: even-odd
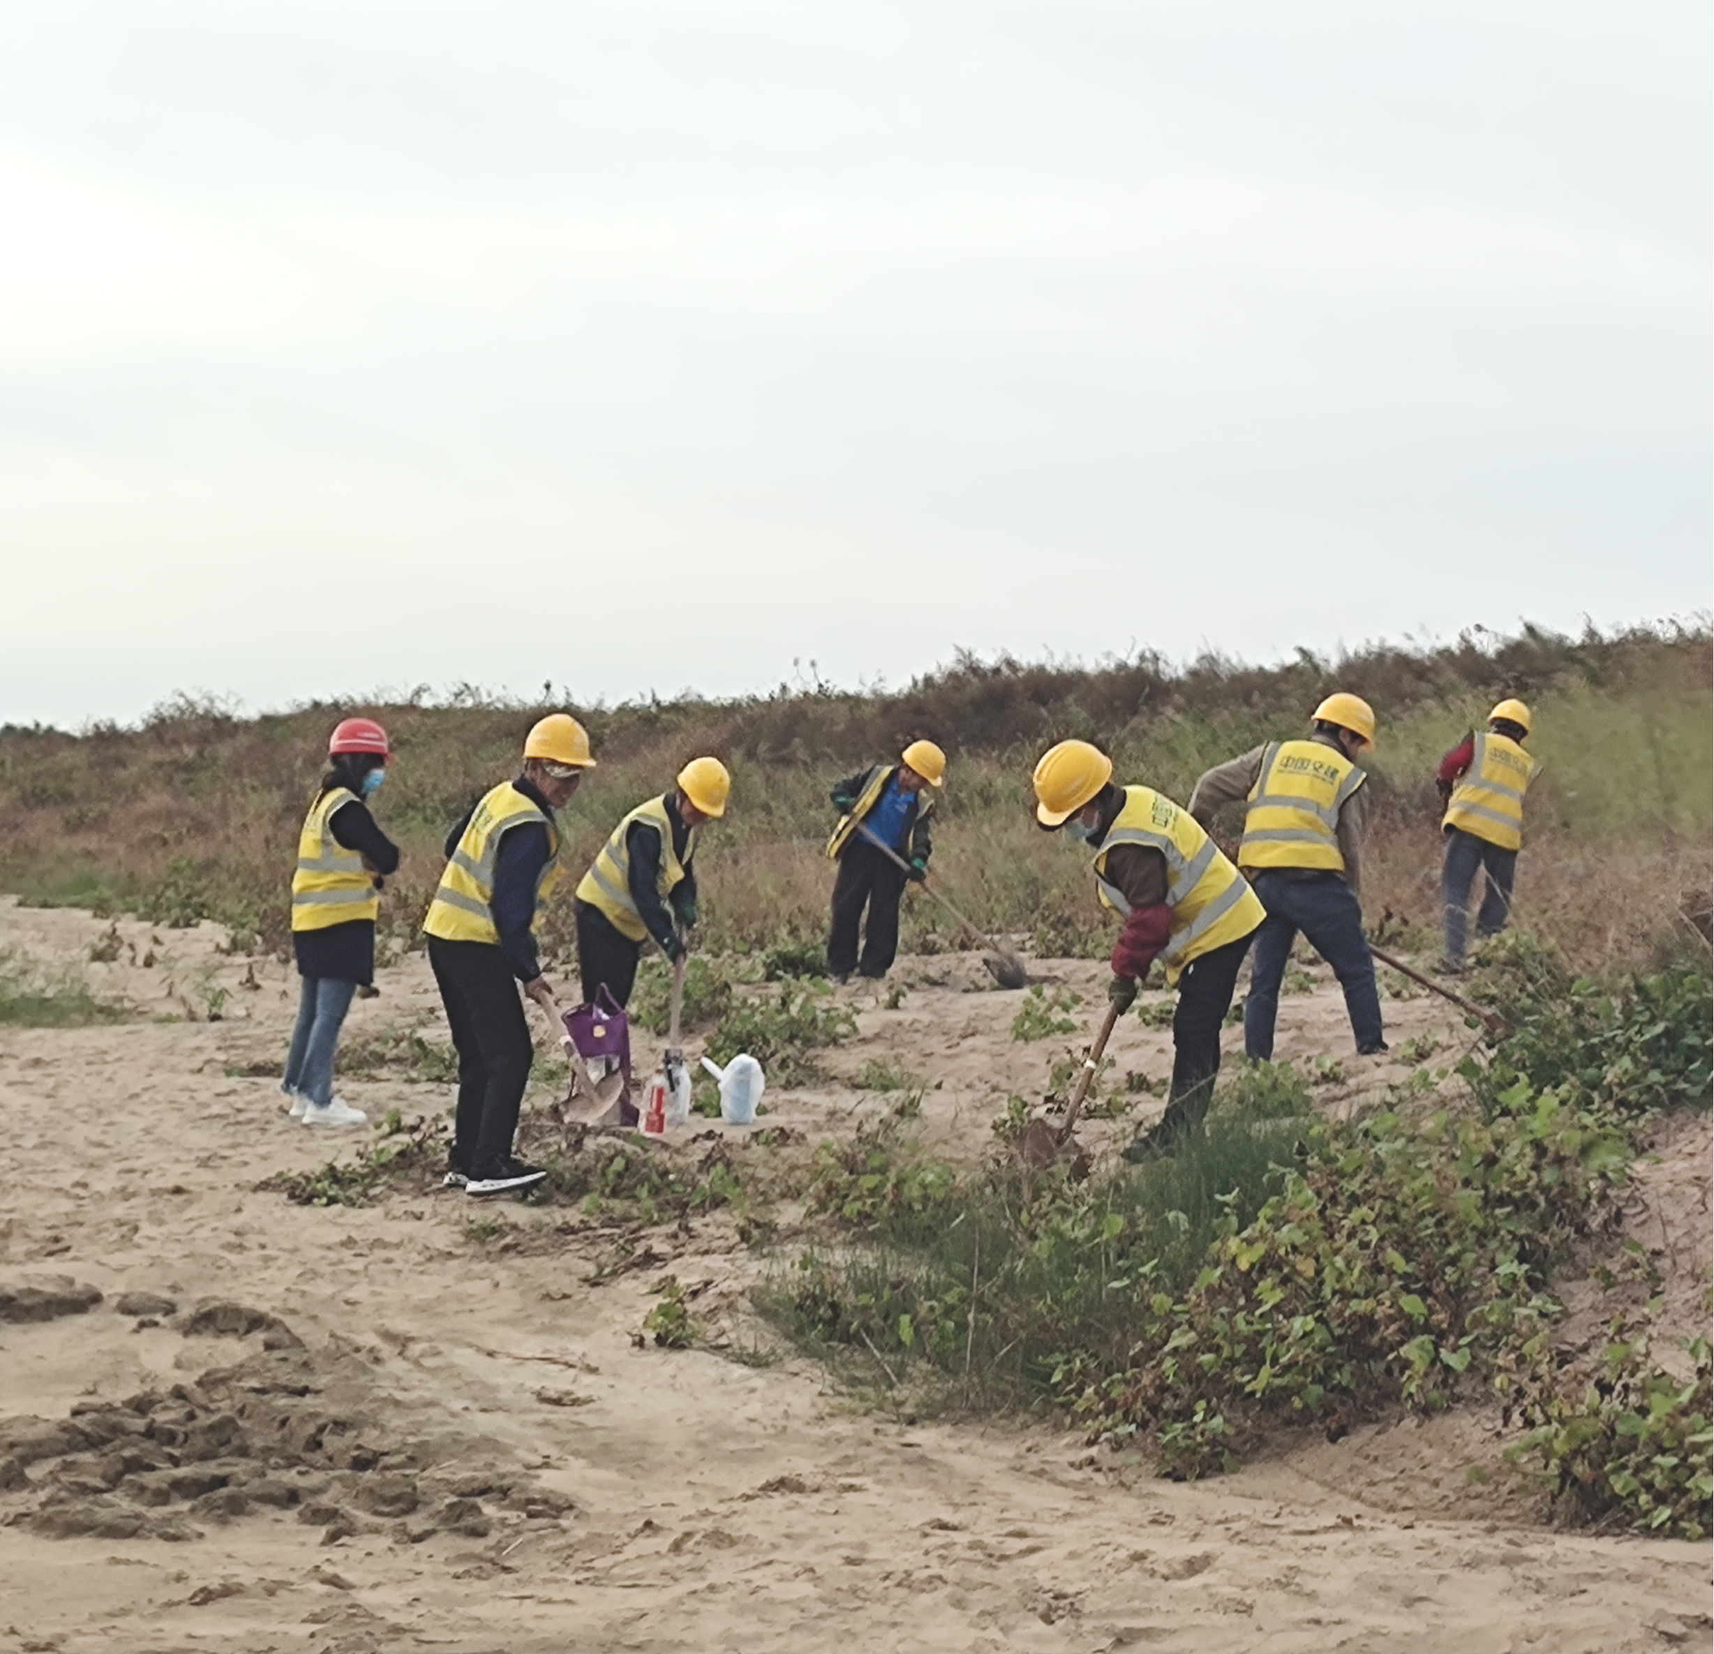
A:
POLYGON ((828 932, 828 975, 835 982, 850 980, 854 970, 879 980, 893 968, 898 903, 907 881, 920 884, 929 876, 929 816, 944 785, 946 754, 932 740, 914 740, 896 764, 874 764, 833 788, 833 804, 842 811, 828 840, 828 857, 840 864, 828 932))

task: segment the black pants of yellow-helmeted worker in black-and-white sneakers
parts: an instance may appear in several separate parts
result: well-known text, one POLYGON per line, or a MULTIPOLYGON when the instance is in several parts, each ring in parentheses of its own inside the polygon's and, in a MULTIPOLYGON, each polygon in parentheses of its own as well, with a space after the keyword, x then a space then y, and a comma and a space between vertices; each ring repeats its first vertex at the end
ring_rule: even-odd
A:
POLYGON ((490 943, 430 936, 428 965, 458 1049, 454 1164, 466 1172, 488 1171, 512 1152, 535 1059, 518 980, 490 943))

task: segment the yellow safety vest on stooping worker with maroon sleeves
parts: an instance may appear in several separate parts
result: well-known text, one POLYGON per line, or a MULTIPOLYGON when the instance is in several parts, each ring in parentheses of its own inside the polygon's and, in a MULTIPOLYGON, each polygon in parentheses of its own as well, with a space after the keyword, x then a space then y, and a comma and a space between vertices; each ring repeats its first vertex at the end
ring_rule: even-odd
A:
POLYGON ((1126 787, 1124 809, 1114 818, 1095 855, 1095 890, 1106 907, 1130 914, 1131 903, 1118 884, 1109 884, 1107 854, 1116 845, 1148 845, 1167 859, 1167 907, 1172 934, 1160 950, 1172 987, 1184 967, 1248 936, 1267 910, 1248 879, 1220 854, 1220 847, 1188 811, 1152 787, 1126 787))

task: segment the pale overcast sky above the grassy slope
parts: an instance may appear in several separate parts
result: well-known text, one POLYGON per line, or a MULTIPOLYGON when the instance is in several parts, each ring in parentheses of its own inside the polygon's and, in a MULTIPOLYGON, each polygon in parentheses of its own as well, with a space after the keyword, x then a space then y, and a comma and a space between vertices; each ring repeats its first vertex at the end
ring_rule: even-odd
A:
POLYGON ((0 722, 1711 603, 1705 0, 0 3, 0 722))

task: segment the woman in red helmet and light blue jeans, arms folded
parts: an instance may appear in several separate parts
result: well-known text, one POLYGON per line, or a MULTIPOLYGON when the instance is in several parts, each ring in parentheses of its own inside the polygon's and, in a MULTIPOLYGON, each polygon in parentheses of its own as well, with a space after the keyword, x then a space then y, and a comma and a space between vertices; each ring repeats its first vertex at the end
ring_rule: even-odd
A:
POLYGON ((381 884, 399 866, 398 847, 365 800, 387 778, 387 732, 374 718, 346 718, 327 742, 327 773, 298 833, 291 876, 291 946, 302 994, 279 1083, 305 1126, 362 1126, 369 1116, 333 1090, 339 1028, 358 987, 375 980, 381 884))

